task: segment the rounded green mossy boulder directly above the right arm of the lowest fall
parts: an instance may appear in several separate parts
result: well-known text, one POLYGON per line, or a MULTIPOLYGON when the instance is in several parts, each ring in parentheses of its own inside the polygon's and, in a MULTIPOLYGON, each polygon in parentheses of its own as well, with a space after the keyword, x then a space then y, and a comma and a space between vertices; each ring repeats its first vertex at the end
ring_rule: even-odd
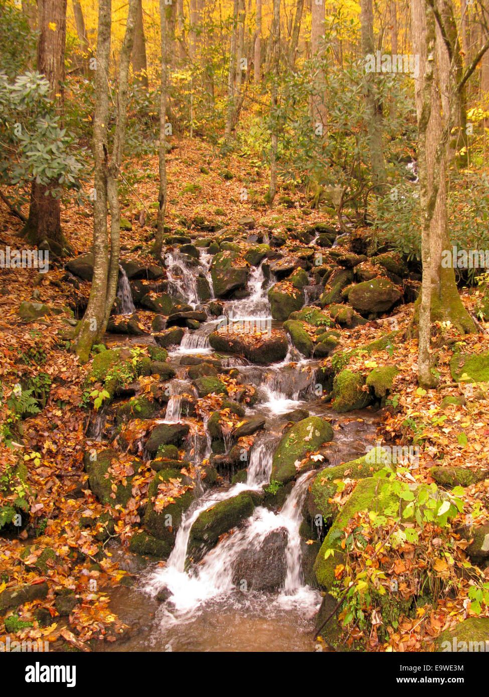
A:
POLYGON ((297 474, 295 463, 314 452, 323 443, 333 440, 333 429, 329 421, 310 416, 296 423, 283 436, 273 455, 270 481, 286 484, 297 474))

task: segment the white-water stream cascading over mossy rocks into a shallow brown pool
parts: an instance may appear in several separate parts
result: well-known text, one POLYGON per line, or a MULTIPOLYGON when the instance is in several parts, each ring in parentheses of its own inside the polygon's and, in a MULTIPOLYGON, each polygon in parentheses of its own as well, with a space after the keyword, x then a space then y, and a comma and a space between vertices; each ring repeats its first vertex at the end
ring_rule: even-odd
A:
MULTIPOLYGON (((167 261, 168 256, 165 257, 167 261)), ((198 272, 210 278, 210 261, 210 255, 202 254, 200 267, 188 268, 178 256, 170 255, 169 292, 197 309, 205 307, 198 304, 195 278, 198 272)), ((123 301, 123 309, 132 312, 127 279, 124 280, 124 275, 121 277, 118 297, 123 301)), ((281 323, 272 321, 270 316, 266 291, 272 283, 273 278, 266 282, 261 265, 254 268, 248 282, 248 298, 223 301, 223 314, 234 321, 260 319, 273 328, 281 328, 281 323)), ((165 418, 160 422, 174 424, 187 420, 181 412, 181 395, 192 389, 186 378, 186 358, 211 358, 213 349, 207 337, 216 330, 219 319, 209 318, 195 331, 186 329, 181 344, 169 351, 168 362, 174 367, 176 377, 170 381, 172 396, 165 418)), ((140 337, 137 339, 141 343, 140 337)), ((111 610, 130 625, 132 631, 126 641, 100 643, 99 650, 317 650, 313 630, 321 595, 317 588, 304 582, 304 545, 299 535, 303 505, 317 470, 297 478, 278 512, 257 505, 253 514, 240 527, 223 535, 200 562, 186 566, 190 528, 204 510, 219 501, 242 491, 259 492, 269 484, 273 454, 291 411, 306 410, 310 416, 330 420, 335 429, 334 440, 326 446, 330 466, 365 454, 366 445, 372 445, 375 440, 379 421, 375 411, 369 408, 347 415, 333 412, 315 394, 317 361, 303 358, 290 344, 285 360, 280 363, 254 365, 230 355, 223 365, 237 369, 239 382, 257 387, 259 398, 253 408, 246 407, 246 417, 265 419, 264 431, 255 436, 250 450, 246 482, 225 482, 201 492, 183 514, 167 562, 151 562, 140 569, 132 588, 110 590, 111 610), (278 555, 276 566, 283 572, 283 582, 273 592, 248 589, 246 580, 239 577, 241 560, 256 560, 259 565, 263 549, 270 551, 274 558, 278 555), (157 596, 163 598, 163 602, 157 596)), ((103 423, 97 428, 92 438, 103 438, 103 423)), ((192 429, 189 441, 191 436, 192 429)), ((211 438, 208 436, 198 447, 196 439, 193 449, 190 445, 188 452, 193 452, 191 459, 199 466, 211 454, 211 438)))

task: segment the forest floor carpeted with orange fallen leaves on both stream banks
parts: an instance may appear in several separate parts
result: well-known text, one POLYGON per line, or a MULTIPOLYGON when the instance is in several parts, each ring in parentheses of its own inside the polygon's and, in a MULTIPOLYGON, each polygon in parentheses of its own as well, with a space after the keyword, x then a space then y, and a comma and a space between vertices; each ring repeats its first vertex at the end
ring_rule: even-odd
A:
MULTIPOLYGON (((148 260, 148 247, 154 231, 149 218, 157 199, 157 177, 147 178, 145 172, 158 171, 156 158, 143 158, 140 164, 133 163, 141 172, 141 181, 135 190, 128 193, 128 205, 121 214, 132 221, 132 231, 121 231, 122 254, 137 254, 148 260), (137 222, 140 210, 147 208, 144 227, 137 222)), ((181 216, 192 220, 195 215, 203 215, 213 220, 222 216, 229 227, 243 215, 252 215, 257 228, 262 224, 273 224, 278 231, 285 231, 285 224, 311 224, 324 220, 324 213, 307 211, 308 201, 304 194, 291 190, 284 191, 296 202, 291 208, 276 205, 265 208, 253 202, 253 197, 242 201, 243 188, 250 187, 264 192, 266 181, 264 172, 248 158, 230 156, 226 167, 216 160, 209 162, 206 146, 200 141, 183 141, 168 157, 168 215, 167 224, 174 229, 181 227, 181 216), (205 174, 202 169, 208 171, 205 174), (223 170, 227 172, 224 173, 223 170), (230 174, 227 174, 230 173, 230 174), (231 177, 230 177, 231 175, 231 177), (184 192, 186 185, 196 185, 195 192, 184 192), (221 209, 222 213, 218 210, 221 209), (216 213, 216 210, 218 211, 216 213)), ((74 256, 86 252, 91 246, 92 217, 88 206, 70 206, 62 210, 63 230, 74 250, 74 256)), ((331 224, 335 221, 331 220, 331 224)), ((0 204, 0 240, 3 246, 22 249, 24 246, 19 232, 22 227, 0 204)), ((80 366, 73 353, 66 349, 68 344, 59 337, 59 330, 66 330, 66 319, 71 314, 68 305, 73 294, 78 292, 73 286, 62 281, 65 274, 63 264, 50 260, 49 273, 38 274, 29 269, 3 269, 0 277, 0 378, 1 378, 1 416, 13 437, 11 447, 0 443, 0 496, 1 503, 13 503, 22 493, 28 502, 29 526, 23 527, 18 535, 10 534, 1 539, 0 547, 0 592, 16 585, 40 585, 47 583, 47 595, 43 599, 33 599, 24 604, 19 625, 12 636, 17 640, 42 638, 53 648, 70 645, 86 650, 93 638, 115 641, 126 627, 121 625, 109 608, 110 588, 130 575, 119 569, 116 558, 106 551, 100 558, 100 543, 96 539, 96 528, 83 528, 83 516, 99 516, 110 507, 98 502, 86 486, 88 475, 84 471, 83 454, 86 450, 87 411, 82 402, 82 384, 89 372, 89 365, 80 366), (45 302, 52 314, 46 319, 24 323, 18 314, 23 300, 36 299, 45 302), (47 405, 37 415, 27 418, 21 424, 11 421, 8 399, 20 375, 36 376, 48 374, 52 380, 47 405), (10 422, 9 422, 10 420, 10 422), (17 427, 21 431, 17 431, 17 427), (19 461, 27 466, 27 476, 18 477, 19 461), (15 477, 17 477, 15 479, 15 477), (12 483, 17 488, 12 489, 12 483), (6 484, 10 493, 5 494, 6 484), (56 554, 57 561, 49 556, 39 560, 40 554, 49 548, 56 554), (26 551, 27 549, 27 551, 26 551), (96 580, 96 586, 91 580, 96 580), (59 614, 61 589, 75 590, 80 602, 68 616, 59 614), (93 590, 96 588, 96 590, 93 590), (40 621, 42 610, 50 613, 52 621, 40 621)), ((86 293, 89 284, 80 284, 86 293)), ((474 293, 464 291, 462 300, 472 308, 476 301, 474 293)), ((398 308, 396 320, 402 335, 412 318, 413 306, 398 308)), ((144 316, 144 312, 141 313, 144 316)), ((348 349, 363 346, 384 336, 391 330, 385 321, 371 321, 367 325, 343 330, 342 347, 348 349)), ((455 339, 456 337, 454 337, 455 339)), ((489 350, 489 323, 479 325, 479 332, 465 337, 464 350, 481 353, 489 350)), ((486 466, 489 458, 489 409, 486 398, 463 391, 463 385, 453 383, 449 361, 453 352, 444 348, 439 353, 437 369, 439 388, 424 392, 419 390, 417 376, 417 343, 415 339, 405 340, 396 346, 395 355, 386 350, 370 355, 357 355, 350 367, 354 371, 367 373, 373 367, 396 365, 395 392, 398 395, 396 408, 384 410, 379 441, 386 443, 412 443, 413 435, 422 444, 419 468, 406 475, 415 482, 432 482, 430 468, 435 464, 444 466, 462 465, 476 470, 486 466), (447 395, 464 397, 465 404, 453 404, 442 409, 442 400, 447 395), (409 430, 406 423, 416 424, 415 431, 409 430)), ((5 432, 5 431, 4 431, 5 432)), ((147 482, 146 482, 147 483, 147 482)), ((464 489, 464 512, 459 516, 472 514, 476 525, 489 522, 489 480, 482 480, 464 489)), ((112 510, 113 512, 113 510, 112 510)), ((119 536, 127 544, 132 535, 131 512, 119 510, 114 536, 119 536)), ((137 521, 136 521, 137 522, 137 521)), ((436 539, 436 538, 435 538, 436 539)), ((423 565, 441 579, 453 579, 453 590, 440 597, 437 604, 420 607, 416 618, 405 618, 393 630, 388 642, 378 643, 371 637, 371 650, 420 650, 430 644, 442 629, 460 620, 461 617, 475 616, 470 609, 468 592, 470 577, 460 572, 466 564, 465 547, 467 542, 459 538, 458 546, 451 550, 423 547, 421 556, 414 554, 414 545, 405 546, 403 555, 393 560, 403 565, 406 572, 412 573, 415 567, 423 565), (402 558, 401 558, 402 557, 402 558)), ((486 569, 489 581, 489 569, 486 569)), ((485 607, 482 615, 489 617, 485 607)), ((8 633, 0 618, 0 635, 8 633)))

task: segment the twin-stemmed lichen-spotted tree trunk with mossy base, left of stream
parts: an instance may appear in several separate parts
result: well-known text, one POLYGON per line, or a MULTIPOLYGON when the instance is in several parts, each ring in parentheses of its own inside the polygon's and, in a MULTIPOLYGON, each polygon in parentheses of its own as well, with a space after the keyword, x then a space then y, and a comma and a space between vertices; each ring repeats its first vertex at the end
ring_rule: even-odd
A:
POLYGON ((107 328, 116 296, 119 277, 120 213, 117 181, 121 168, 126 135, 128 75, 133 49, 137 0, 130 0, 126 33, 119 61, 118 91, 116 93, 116 123, 112 155, 109 153, 107 123, 109 122, 110 29, 112 0, 100 0, 98 6, 96 103, 93 118, 93 279, 89 303, 77 328, 75 351, 80 362, 89 360, 91 347, 100 341, 107 328), (107 234, 107 203, 110 208, 110 254, 107 234))

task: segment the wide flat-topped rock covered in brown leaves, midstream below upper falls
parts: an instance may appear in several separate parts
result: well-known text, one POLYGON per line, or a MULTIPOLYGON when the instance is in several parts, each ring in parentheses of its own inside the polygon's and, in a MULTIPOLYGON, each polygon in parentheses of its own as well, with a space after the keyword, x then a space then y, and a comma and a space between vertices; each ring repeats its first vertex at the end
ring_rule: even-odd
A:
POLYGON ((288 343, 282 332, 211 332, 209 344, 215 351, 237 353, 250 362, 268 365, 283 360, 287 355, 288 343))

